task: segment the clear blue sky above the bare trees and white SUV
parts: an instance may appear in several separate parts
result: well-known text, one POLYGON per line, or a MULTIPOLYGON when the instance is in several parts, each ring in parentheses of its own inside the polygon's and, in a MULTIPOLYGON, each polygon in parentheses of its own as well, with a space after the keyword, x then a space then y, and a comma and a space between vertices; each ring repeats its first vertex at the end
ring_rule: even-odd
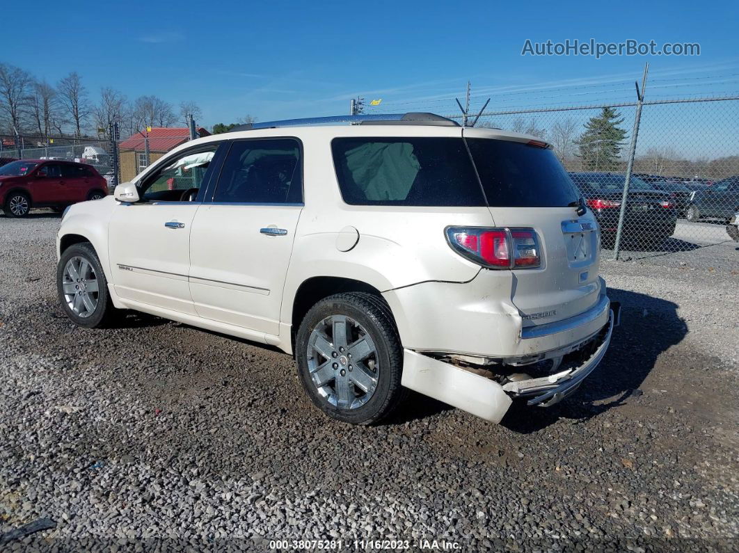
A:
MULTIPOLYGON (((630 83, 641 75, 644 61, 652 63, 654 78, 739 74, 735 2, 713 2, 710 9, 695 1, 5 4, 1 61, 50 82, 75 70, 93 100, 101 86, 129 98, 158 95, 175 106, 195 100, 203 111, 199 123, 207 126, 247 113, 259 120, 342 114, 358 94, 383 98, 383 107, 393 111, 449 112, 455 105, 449 98, 461 98, 468 79, 473 105, 488 95, 494 105, 516 105, 527 95, 504 93, 522 90, 531 90, 530 103, 548 103, 547 95, 534 92, 554 88, 556 96, 558 86, 578 84, 596 88, 573 101, 609 94, 629 100, 630 83), (527 38, 591 37, 698 42, 701 56, 521 55, 527 38)), ((723 85, 739 89, 731 78, 723 85)))

